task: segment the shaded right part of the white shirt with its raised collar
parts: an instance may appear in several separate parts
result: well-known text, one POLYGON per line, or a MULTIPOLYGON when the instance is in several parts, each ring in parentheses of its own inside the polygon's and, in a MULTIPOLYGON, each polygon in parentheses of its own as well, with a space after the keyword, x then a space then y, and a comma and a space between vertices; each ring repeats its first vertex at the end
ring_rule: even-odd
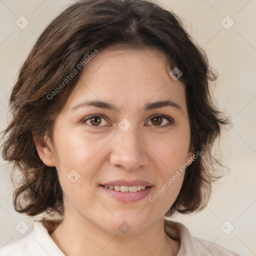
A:
POLYGON ((240 256, 215 242, 191 236, 189 230, 179 222, 164 219, 164 230, 171 238, 180 241, 180 248, 177 256, 240 256))

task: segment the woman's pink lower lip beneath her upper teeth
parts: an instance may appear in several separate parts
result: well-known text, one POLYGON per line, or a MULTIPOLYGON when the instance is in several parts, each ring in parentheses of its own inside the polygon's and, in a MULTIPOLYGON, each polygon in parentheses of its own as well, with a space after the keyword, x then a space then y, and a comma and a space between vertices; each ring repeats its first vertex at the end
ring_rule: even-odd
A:
POLYGON ((116 198, 117 200, 119 200, 121 202, 135 202, 135 201, 138 201, 138 200, 144 198, 147 194, 149 194, 149 192, 153 188, 153 186, 149 186, 149 187, 147 187, 143 190, 139 190, 137 192, 121 192, 121 191, 116 191, 114 189, 106 188, 102 185, 100 185, 100 187, 104 191, 106 191, 110 196, 116 198))

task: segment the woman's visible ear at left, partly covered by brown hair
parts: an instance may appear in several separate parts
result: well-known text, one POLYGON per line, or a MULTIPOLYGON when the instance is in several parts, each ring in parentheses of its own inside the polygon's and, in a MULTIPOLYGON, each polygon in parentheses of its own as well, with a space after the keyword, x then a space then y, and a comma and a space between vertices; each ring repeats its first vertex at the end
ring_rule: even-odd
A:
POLYGON ((38 136, 35 132, 32 132, 33 141, 37 150, 37 153, 43 163, 47 166, 55 166, 52 145, 47 135, 43 137, 38 136))

